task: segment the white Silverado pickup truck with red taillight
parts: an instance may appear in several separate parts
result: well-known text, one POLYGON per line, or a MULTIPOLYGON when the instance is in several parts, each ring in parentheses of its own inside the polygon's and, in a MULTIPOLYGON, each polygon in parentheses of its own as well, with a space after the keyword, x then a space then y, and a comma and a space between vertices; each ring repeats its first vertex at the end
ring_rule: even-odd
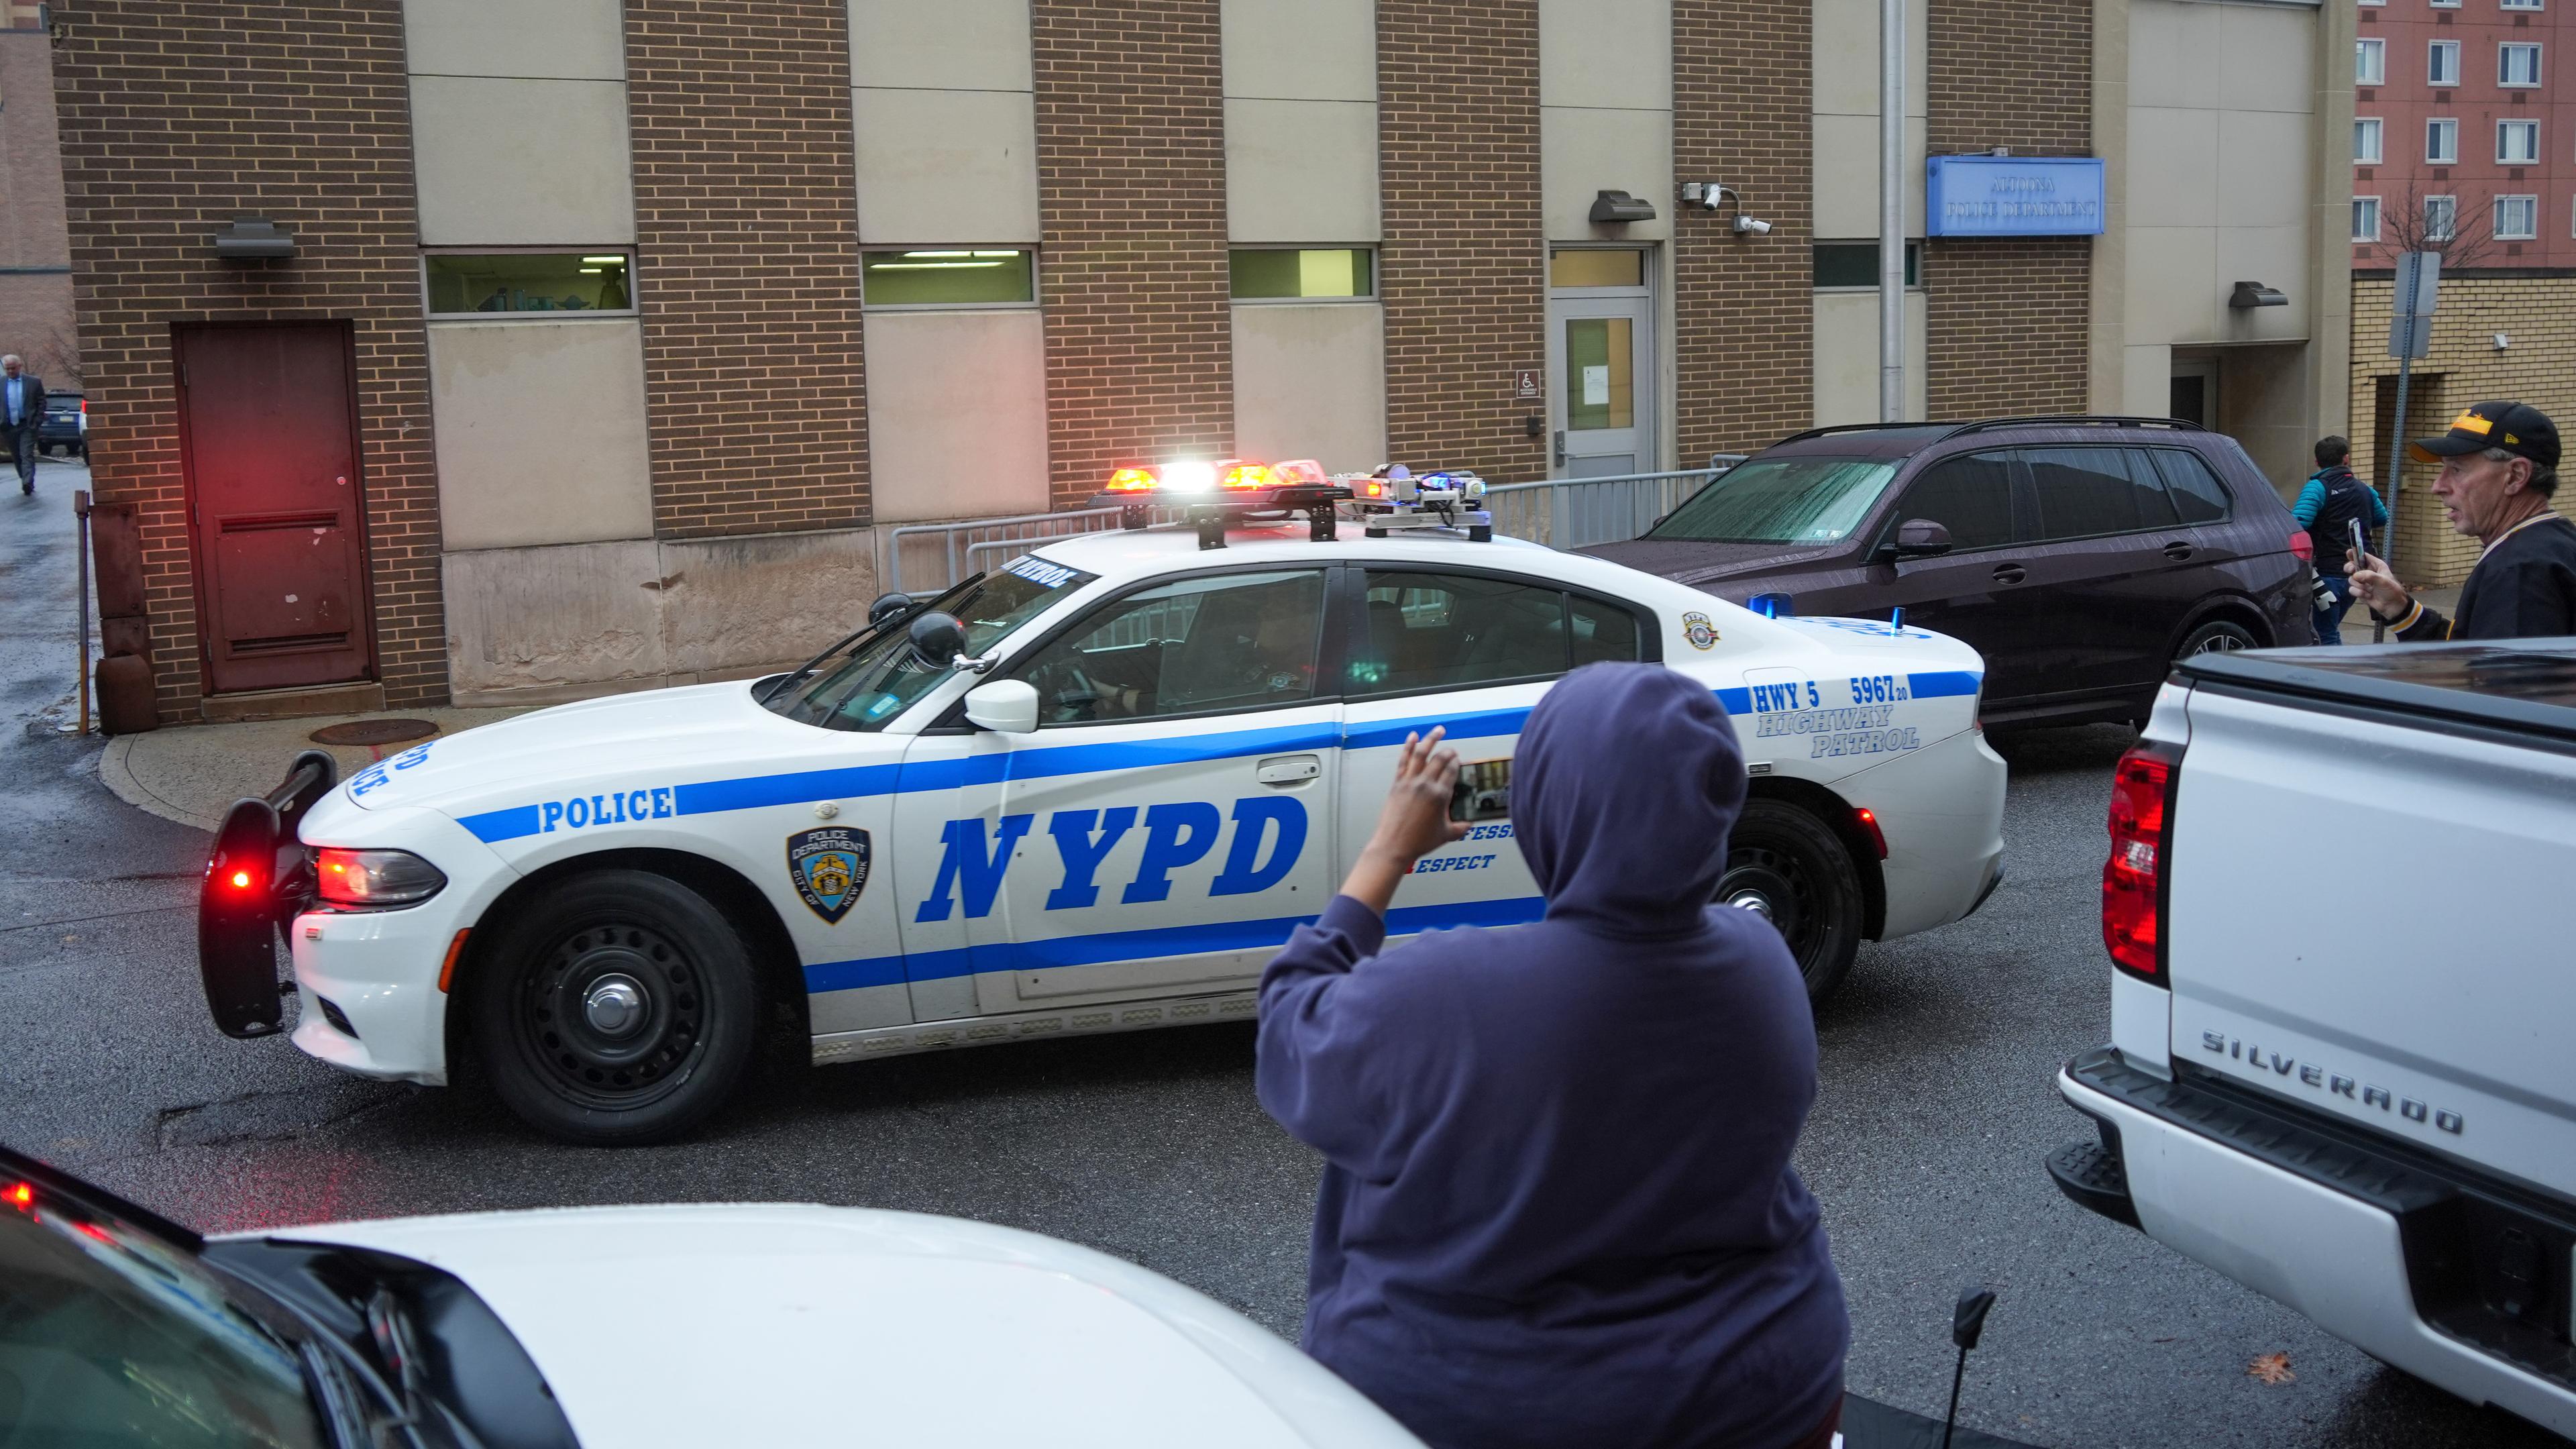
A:
POLYGON ((2576 1436, 2576 639, 2184 660, 2120 761, 2074 1201, 2576 1436))

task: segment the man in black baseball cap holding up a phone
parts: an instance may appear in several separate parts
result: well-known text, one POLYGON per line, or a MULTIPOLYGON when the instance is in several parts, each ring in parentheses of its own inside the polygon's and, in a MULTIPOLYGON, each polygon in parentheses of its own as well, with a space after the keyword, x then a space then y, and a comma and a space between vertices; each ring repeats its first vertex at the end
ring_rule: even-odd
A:
POLYGON ((2383 559, 2347 565, 2352 593, 2409 645, 2421 639, 2550 639, 2576 634, 2576 523, 2550 508, 2558 425, 2524 402, 2481 402, 2414 456, 2439 462, 2432 495, 2450 526, 2486 544, 2460 588, 2460 616, 2416 603, 2383 559))

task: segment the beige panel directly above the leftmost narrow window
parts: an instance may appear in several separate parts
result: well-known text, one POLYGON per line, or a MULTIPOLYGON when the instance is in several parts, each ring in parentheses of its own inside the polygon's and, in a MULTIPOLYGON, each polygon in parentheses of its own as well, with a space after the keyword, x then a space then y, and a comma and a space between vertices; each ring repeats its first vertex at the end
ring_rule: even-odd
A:
POLYGON ((412 157, 425 245, 636 237, 623 83, 415 75, 412 157))

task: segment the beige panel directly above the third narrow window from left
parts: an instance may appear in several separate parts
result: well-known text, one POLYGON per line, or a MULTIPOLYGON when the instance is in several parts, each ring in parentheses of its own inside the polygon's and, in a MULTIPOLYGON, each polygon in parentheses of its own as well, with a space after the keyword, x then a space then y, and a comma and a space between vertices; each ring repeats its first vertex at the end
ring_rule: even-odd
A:
POLYGON ((1376 242, 1376 101, 1226 101, 1226 235, 1376 242))

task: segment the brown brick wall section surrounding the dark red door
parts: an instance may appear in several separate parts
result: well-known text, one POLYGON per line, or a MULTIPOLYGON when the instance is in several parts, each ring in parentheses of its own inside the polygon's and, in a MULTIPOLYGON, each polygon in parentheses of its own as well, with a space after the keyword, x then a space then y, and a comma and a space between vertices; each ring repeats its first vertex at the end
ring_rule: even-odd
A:
POLYGON ((93 490, 139 503, 165 719, 201 691, 170 325, 348 320, 358 348, 376 668, 448 694, 399 0, 82 0, 54 52, 93 490), (219 263, 234 214, 294 260, 219 263))

